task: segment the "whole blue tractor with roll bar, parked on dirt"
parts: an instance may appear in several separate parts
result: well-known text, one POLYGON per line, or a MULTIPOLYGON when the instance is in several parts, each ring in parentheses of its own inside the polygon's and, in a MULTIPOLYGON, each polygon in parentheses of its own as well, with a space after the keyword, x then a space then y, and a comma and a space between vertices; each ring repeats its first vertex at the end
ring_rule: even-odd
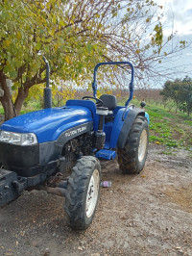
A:
MULTIPOLYGON (((47 78, 48 78, 47 63, 47 78)), ((47 79, 47 83, 48 83, 47 79)), ((48 85, 48 84, 47 84, 48 85)), ((65 196, 64 210, 73 229, 86 229, 94 218, 100 188, 98 159, 117 155, 124 174, 139 173, 146 161, 149 115, 130 105, 133 66, 129 62, 100 63, 94 68, 93 97, 71 99, 51 108, 51 89, 45 89, 45 109, 19 115, 0 127, 0 205, 27 189, 45 186, 47 192, 65 196), (114 95, 97 98, 100 65, 129 65, 130 97, 117 106, 114 95)))

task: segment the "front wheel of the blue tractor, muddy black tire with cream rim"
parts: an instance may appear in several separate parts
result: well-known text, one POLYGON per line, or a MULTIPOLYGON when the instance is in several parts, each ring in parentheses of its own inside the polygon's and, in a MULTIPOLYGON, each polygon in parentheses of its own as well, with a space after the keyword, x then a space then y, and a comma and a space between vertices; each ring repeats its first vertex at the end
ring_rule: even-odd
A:
POLYGON ((101 188, 99 160, 84 156, 73 167, 68 179, 64 210, 74 230, 85 230, 95 216, 101 188))

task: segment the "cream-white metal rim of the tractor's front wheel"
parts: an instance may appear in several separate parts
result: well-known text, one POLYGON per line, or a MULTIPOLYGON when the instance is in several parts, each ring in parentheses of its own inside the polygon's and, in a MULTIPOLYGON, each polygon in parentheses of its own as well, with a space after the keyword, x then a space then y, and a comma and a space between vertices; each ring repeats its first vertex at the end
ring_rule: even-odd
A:
POLYGON ((86 217, 90 218, 94 213, 97 198, 99 194, 100 187, 100 175, 98 169, 95 169, 92 173, 92 176, 89 180, 88 190, 86 193, 86 217))

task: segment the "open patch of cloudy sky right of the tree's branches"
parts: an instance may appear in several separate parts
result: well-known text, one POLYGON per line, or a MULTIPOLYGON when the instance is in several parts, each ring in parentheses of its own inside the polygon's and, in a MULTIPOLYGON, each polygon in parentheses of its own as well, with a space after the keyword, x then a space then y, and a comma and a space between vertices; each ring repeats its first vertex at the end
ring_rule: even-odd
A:
MULTIPOLYGON (((168 36, 177 32, 179 40, 192 42, 192 0, 156 0, 163 6, 163 35, 168 36)), ((180 57, 173 59, 172 67, 177 67, 173 78, 192 77, 192 44, 184 49, 180 57)))

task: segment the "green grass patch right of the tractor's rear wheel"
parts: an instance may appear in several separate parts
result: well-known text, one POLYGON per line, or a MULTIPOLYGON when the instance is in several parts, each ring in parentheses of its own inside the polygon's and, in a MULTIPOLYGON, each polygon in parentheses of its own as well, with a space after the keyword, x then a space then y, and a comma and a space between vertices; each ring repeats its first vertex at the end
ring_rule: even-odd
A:
POLYGON ((188 115, 170 113, 161 107, 146 106, 150 115, 150 141, 164 144, 166 151, 192 148, 192 120, 188 115))

